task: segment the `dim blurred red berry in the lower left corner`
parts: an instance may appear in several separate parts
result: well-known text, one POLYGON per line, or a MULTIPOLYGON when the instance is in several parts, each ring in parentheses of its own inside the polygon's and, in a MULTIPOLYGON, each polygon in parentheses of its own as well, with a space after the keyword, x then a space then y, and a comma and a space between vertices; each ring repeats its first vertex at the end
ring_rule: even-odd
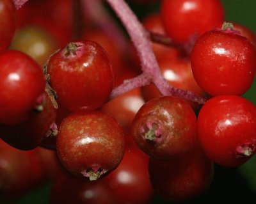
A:
POLYGON ((15 200, 45 178, 38 150, 20 151, 0 140, 0 200, 15 200))

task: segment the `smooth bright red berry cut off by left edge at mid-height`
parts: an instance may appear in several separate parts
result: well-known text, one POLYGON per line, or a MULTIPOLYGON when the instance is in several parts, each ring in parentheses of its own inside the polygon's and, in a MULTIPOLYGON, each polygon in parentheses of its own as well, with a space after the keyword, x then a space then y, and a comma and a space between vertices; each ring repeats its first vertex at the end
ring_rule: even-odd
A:
POLYGON ((0 54, 0 79, 0 123, 24 122, 42 102, 42 68, 23 52, 4 51, 0 54))

